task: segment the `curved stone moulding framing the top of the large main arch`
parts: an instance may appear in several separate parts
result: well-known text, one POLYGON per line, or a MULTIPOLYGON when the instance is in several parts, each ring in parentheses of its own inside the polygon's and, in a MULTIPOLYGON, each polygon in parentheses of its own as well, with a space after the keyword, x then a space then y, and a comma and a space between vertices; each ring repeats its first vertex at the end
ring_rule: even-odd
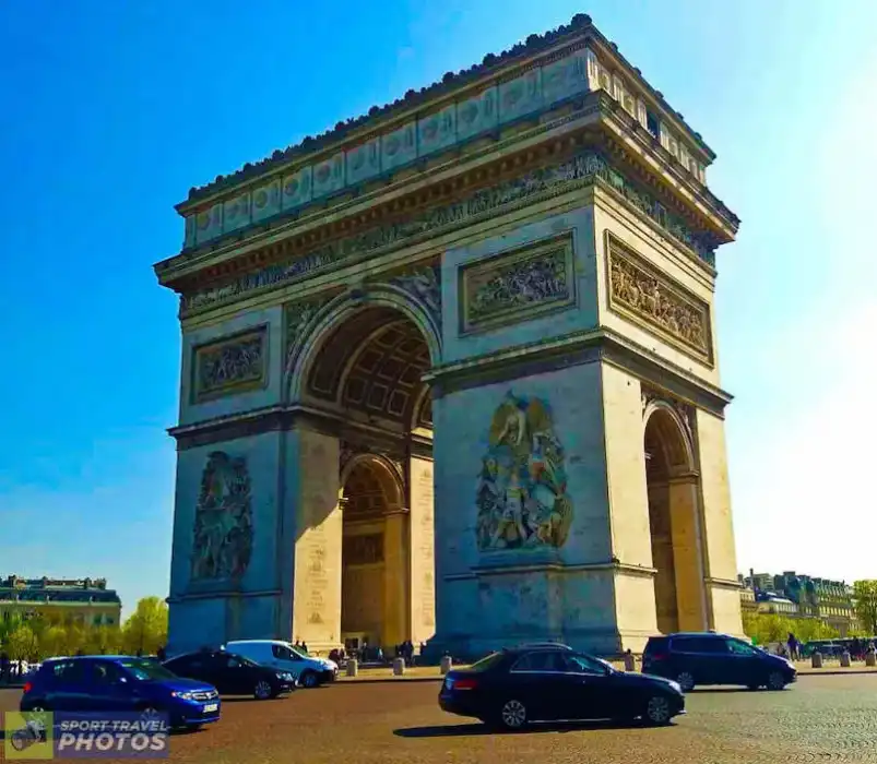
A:
POLYGON ((395 284, 378 283, 348 289, 315 310, 300 326, 286 365, 284 392, 286 401, 300 401, 305 383, 321 348, 335 332, 359 313, 375 309, 395 311, 419 331, 429 351, 431 366, 441 361, 441 319, 418 296, 395 284))

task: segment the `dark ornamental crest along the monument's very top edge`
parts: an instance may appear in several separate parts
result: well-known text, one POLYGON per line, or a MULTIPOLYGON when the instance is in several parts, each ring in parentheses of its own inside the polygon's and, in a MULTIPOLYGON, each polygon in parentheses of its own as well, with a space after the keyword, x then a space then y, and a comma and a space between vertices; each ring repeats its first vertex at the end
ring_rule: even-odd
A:
POLYGON ((602 44, 608 46, 614 51, 621 62, 629 68, 631 76, 639 81, 649 95, 655 99, 660 107, 672 115, 678 120, 680 127, 688 134, 688 138, 697 145, 700 151, 712 160, 715 158, 714 152, 704 143, 700 133, 695 132, 686 122, 682 114, 673 109, 669 104, 664 99, 660 91, 654 89, 643 77, 642 73, 636 67, 632 67, 624 57, 618 52, 618 46, 611 43, 592 25, 591 17, 585 14, 578 14, 572 17, 569 24, 561 25, 556 29, 546 32, 542 35, 530 35, 526 40, 519 43, 501 53, 488 53, 484 57, 481 63, 476 63, 469 69, 460 72, 447 72, 440 82, 432 83, 419 91, 410 89, 401 98, 398 98, 392 104, 383 106, 372 106, 368 114, 362 115, 353 119, 337 122, 334 128, 317 136, 307 136, 300 143, 287 146, 283 150, 276 150, 271 156, 265 157, 261 162, 254 164, 247 163, 239 170, 226 176, 217 176, 215 180, 189 190, 189 196, 186 202, 177 205, 181 211, 182 207, 188 207, 191 203, 201 201, 210 195, 237 186, 238 183, 247 180, 254 179, 266 171, 276 169, 294 159, 301 158, 308 154, 316 153, 330 146, 333 143, 340 142, 348 138, 354 132, 365 132, 368 129, 377 128, 377 124, 384 121, 387 118, 399 116, 410 109, 424 106, 429 102, 443 96, 452 91, 457 91, 464 85, 477 82, 488 74, 495 73, 497 70, 508 67, 509 64, 518 63, 522 60, 531 58, 537 53, 548 50, 555 45, 566 41, 568 38, 581 36, 584 31, 602 44))

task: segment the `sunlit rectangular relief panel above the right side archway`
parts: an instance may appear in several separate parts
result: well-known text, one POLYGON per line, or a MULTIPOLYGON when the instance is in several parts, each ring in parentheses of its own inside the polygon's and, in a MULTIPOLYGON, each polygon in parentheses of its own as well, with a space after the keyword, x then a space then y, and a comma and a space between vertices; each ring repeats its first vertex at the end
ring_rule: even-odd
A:
POLYGON ((609 308, 712 366, 710 308, 606 231, 609 308))

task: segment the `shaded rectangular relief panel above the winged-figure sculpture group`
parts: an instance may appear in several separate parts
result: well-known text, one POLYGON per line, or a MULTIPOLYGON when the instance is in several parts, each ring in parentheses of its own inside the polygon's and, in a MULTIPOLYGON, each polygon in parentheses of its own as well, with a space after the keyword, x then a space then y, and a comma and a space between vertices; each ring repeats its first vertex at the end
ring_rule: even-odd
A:
POLYGON ((572 236, 503 252, 461 270, 460 331, 528 321, 576 301, 572 236))

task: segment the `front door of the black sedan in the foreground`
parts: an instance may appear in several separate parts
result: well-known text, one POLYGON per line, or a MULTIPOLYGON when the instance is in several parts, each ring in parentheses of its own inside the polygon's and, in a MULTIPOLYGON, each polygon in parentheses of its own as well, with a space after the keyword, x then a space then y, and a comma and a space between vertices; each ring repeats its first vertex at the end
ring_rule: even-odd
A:
POLYGON ((564 705, 558 718, 608 719, 621 709, 621 699, 609 678, 608 668, 590 656, 558 653, 562 688, 558 699, 564 705))

